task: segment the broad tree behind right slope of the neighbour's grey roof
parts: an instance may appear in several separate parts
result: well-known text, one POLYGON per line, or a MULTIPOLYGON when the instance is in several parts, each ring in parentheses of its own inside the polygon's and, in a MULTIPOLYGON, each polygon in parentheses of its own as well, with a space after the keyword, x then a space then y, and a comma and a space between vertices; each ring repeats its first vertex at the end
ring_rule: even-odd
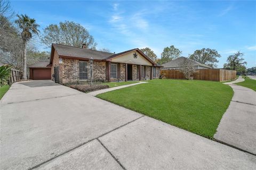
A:
POLYGON ((217 60, 219 57, 221 57, 221 55, 217 52, 217 50, 210 48, 197 49, 194 54, 189 55, 190 60, 209 65, 211 67, 217 66, 215 63, 219 62, 217 60))

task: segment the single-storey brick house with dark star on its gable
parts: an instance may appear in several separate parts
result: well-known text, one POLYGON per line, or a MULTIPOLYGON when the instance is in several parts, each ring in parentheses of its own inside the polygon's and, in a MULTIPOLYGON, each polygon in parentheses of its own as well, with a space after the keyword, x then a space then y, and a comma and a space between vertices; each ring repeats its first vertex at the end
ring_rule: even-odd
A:
POLYGON ((58 83, 90 80, 90 58, 93 81, 127 81, 159 78, 160 67, 140 49, 122 53, 52 44, 50 65, 52 80, 58 83))

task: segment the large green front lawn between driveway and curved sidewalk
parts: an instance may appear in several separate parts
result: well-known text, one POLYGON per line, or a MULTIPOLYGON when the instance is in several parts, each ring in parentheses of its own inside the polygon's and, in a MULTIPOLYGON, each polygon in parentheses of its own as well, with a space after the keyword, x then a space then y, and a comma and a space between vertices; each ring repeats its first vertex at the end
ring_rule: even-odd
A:
POLYGON ((213 138, 233 90, 221 82, 150 80, 97 97, 179 128, 213 138))

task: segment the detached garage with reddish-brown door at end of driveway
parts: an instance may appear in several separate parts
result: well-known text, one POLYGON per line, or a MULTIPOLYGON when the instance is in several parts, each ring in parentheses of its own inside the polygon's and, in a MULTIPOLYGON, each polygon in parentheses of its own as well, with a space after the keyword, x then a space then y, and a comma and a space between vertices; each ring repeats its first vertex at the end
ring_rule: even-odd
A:
POLYGON ((29 67, 29 79, 32 80, 51 80, 51 66, 49 62, 37 62, 29 67))

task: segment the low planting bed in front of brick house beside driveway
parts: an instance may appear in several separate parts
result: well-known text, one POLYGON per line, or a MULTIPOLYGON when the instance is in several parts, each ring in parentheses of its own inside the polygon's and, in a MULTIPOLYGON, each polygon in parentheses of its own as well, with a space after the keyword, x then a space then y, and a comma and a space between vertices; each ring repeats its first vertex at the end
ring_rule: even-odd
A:
POLYGON ((109 88, 109 86, 106 84, 93 84, 92 87, 89 84, 71 84, 69 87, 82 92, 90 92, 109 88))

